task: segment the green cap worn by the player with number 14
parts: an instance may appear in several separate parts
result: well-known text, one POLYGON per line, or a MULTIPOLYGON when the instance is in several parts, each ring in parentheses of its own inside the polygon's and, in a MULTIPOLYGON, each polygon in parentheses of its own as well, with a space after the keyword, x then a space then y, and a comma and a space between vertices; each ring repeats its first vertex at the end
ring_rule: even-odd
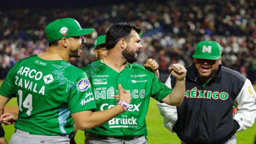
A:
POLYGON ((82 29, 77 20, 73 18, 56 19, 45 28, 49 42, 60 40, 63 37, 84 36, 94 32, 94 29, 82 29))

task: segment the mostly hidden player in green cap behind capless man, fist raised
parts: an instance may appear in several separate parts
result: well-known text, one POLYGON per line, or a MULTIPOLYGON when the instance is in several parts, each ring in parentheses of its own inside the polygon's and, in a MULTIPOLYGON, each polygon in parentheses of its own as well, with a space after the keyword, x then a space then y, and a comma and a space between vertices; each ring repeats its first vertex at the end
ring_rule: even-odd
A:
MULTIPOLYGON (((99 36, 95 40, 94 44, 94 50, 93 53, 95 54, 95 57, 98 58, 98 60, 102 60, 107 56, 107 48, 106 48, 106 35, 99 36)), ((156 74, 157 78, 159 78, 159 65, 157 64, 156 60, 153 60, 152 58, 147 59, 147 61, 144 64, 144 67, 150 71, 156 74)))

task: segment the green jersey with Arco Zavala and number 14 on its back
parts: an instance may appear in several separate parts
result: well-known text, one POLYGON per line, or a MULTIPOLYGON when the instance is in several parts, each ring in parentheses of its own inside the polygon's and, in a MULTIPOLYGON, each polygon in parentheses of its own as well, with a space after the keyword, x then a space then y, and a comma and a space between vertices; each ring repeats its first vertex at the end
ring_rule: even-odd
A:
POLYGON ((15 128, 39 135, 74 131, 72 113, 96 108, 89 80, 64 60, 47 61, 33 55, 17 62, 0 87, 0 95, 17 97, 15 128))

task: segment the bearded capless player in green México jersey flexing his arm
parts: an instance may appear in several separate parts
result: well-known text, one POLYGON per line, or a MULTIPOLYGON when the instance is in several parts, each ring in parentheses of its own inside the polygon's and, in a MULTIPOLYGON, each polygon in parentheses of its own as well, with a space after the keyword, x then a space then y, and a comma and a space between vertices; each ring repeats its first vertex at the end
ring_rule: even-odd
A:
POLYGON ((138 35, 140 30, 132 24, 114 24, 106 35, 106 58, 82 68, 88 75, 97 105, 93 111, 103 111, 115 105, 113 96, 118 94, 118 83, 132 95, 127 112, 102 126, 86 130, 86 144, 145 144, 145 116, 150 97, 176 106, 183 100, 186 75, 183 65, 174 64, 168 68, 178 82, 173 89, 169 89, 143 66, 129 64, 138 60, 137 52, 142 48, 138 35))

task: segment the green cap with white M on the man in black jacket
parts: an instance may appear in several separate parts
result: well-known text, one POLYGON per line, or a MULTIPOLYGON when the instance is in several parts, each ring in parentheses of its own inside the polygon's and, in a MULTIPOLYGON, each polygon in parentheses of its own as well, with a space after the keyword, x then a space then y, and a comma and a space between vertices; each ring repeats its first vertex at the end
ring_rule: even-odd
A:
POLYGON ((202 58, 207 60, 218 60, 221 57, 221 46, 219 43, 206 40, 196 45, 193 58, 202 58))

